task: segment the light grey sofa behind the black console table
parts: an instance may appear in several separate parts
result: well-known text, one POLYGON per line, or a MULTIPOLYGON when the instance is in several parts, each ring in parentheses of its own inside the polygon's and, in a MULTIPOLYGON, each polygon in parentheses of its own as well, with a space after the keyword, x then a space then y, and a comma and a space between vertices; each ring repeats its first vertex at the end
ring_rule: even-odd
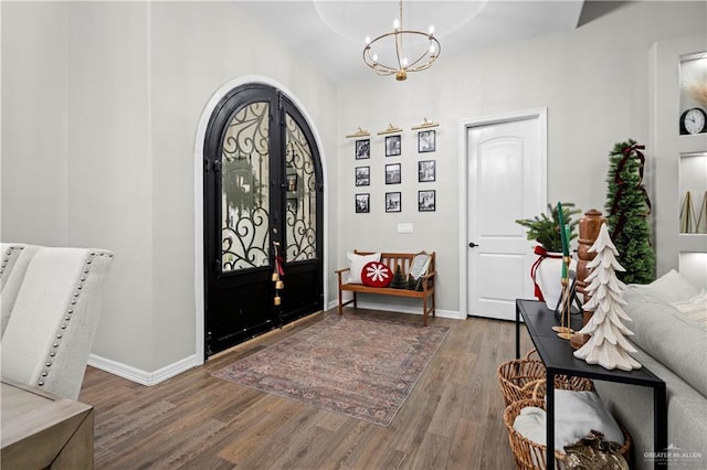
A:
MULTIPOLYGON (((699 293, 671 271, 650 285, 630 285, 623 296, 633 320, 626 322, 634 332, 629 339, 639 350, 632 355, 666 384, 668 449, 658 450, 669 452, 668 468, 707 468, 707 331, 676 308, 699 293)), ((634 467, 652 469, 652 389, 600 381, 594 385, 633 438, 634 467)))

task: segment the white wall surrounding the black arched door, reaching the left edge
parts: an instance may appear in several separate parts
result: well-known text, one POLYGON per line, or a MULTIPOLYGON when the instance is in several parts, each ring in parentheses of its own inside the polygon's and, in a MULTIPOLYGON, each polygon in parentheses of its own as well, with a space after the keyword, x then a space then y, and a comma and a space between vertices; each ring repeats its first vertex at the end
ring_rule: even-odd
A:
POLYGON ((2 103, 1 238, 114 250, 94 357, 158 380, 197 354, 194 139, 207 102, 234 77, 271 77, 303 104, 326 158, 335 85, 235 2, 3 3, 2 44, 13 98, 2 103))

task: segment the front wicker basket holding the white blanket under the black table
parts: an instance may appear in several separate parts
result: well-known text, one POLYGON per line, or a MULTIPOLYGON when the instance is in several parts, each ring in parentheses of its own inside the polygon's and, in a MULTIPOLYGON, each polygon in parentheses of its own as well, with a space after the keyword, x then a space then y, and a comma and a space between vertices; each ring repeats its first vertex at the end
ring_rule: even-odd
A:
MULTIPOLYGON (((510 449, 516 461, 516 469, 518 470, 536 470, 547 469, 546 451, 547 447, 534 442, 513 428, 513 424, 516 417, 523 408, 526 406, 537 406, 545 409, 545 399, 542 398, 529 398, 521 399, 508 405, 504 412, 504 424, 506 430, 508 430, 508 440, 510 442, 510 449)), ((619 449, 621 455, 629 461, 629 452, 631 451, 631 435, 625 427, 621 426, 621 430, 624 437, 624 444, 619 449)), ((561 450, 555 450, 555 468, 563 469, 562 461, 564 460, 564 452, 561 450)))

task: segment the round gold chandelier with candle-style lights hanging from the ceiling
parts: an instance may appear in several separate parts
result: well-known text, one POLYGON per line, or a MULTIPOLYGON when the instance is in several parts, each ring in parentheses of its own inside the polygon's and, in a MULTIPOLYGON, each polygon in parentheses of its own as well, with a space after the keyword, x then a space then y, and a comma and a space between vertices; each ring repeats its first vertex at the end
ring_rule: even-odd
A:
MULTIPOLYGON (((410 52, 413 47, 408 51, 410 52)), ((395 75, 395 79, 404 81, 408 78, 408 72, 421 72, 430 68, 440 56, 441 49, 440 41, 434 36, 434 26, 431 25, 426 33, 403 29, 402 0, 400 0, 400 18, 395 19, 393 22, 393 31, 381 34, 373 40, 369 36, 366 38, 363 62, 366 62, 366 65, 376 71, 379 75, 395 75), (410 60, 405 55, 403 40, 414 42, 414 40, 420 40, 420 36, 426 39, 425 50, 422 51, 421 49, 415 49, 413 54, 420 55, 414 60, 410 60), (390 61, 393 61, 394 63, 379 62, 379 56, 376 51, 381 51, 384 44, 389 44, 391 40, 394 43, 394 60, 391 57, 390 61)))

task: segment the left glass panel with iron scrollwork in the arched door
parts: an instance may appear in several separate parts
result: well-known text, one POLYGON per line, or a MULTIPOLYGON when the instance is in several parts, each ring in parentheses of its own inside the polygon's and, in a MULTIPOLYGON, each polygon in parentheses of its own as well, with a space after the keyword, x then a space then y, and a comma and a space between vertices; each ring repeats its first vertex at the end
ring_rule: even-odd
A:
POLYGON ((270 104, 247 105, 229 122, 221 153, 221 270, 270 264, 270 104))

